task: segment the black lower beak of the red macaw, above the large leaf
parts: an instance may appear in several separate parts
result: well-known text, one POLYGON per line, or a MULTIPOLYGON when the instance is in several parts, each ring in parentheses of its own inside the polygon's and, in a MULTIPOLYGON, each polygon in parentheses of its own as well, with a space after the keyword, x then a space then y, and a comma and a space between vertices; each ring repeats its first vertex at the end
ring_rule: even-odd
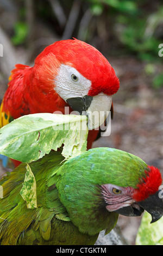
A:
POLYGON ((82 112, 87 111, 87 109, 90 107, 92 100, 92 96, 86 95, 84 97, 73 97, 67 99, 66 102, 68 105, 70 105, 73 111, 78 111, 80 115, 82 115, 82 112))

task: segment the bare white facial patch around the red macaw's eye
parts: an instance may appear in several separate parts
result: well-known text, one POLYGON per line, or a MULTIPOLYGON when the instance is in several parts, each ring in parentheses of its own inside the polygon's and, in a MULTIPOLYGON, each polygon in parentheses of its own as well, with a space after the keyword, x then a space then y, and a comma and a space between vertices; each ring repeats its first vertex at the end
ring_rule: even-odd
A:
POLYGON ((71 97, 84 97, 91 88, 91 81, 72 66, 61 64, 55 77, 55 91, 65 101, 71 97))

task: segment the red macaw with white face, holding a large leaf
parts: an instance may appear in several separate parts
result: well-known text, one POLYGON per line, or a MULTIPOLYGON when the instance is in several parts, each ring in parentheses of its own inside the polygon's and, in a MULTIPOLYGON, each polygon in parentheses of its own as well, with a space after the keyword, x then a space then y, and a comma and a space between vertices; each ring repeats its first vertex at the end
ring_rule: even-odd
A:
MULTIPOLYGON (((34 66, 15 65, 0 108, 0 127, 22 115, 65 113, 65 107, 88 116, 87 149, 112 107, 120 82, 108 60, 83 41, 54 42, 36 57, 34 66), (92 113, 99 114, 93 121, 92 113)), ((71 113, 70 111, 70 113, 71 113)), ((17 166, 17 164, 15 164, 17 166)))

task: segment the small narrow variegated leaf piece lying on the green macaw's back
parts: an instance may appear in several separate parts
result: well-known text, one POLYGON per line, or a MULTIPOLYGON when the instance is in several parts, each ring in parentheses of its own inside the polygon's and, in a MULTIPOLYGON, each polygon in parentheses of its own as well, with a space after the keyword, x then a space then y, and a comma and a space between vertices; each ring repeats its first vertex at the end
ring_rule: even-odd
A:
POLYGON ((20 191, 22 198, 27 203, 28 209, 37 208, 37 196, 36 196, 36 181, 35 176, 30 169, 30 166, 26 166, 27 172, 24 178, 23 187, 20 191))

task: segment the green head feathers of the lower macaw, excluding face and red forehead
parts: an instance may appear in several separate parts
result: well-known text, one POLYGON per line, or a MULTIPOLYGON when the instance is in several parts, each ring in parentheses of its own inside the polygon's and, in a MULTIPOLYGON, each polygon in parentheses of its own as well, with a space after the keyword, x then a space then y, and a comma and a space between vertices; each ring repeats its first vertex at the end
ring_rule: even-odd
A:
POLYGON ((118 215, 104 209, 97 187, 111 183, 136 188, 145 176, 147 164, 139 157, 111 148, 90 149, 70 159, 57 172, 57 187, 61 202, 72 222, 82 233, 96 234, 97 230, 111 230, 118 215), (76 184, 74 188, 73 184, 76 184), (78 209, 78 212, 76 212, 78 209))

